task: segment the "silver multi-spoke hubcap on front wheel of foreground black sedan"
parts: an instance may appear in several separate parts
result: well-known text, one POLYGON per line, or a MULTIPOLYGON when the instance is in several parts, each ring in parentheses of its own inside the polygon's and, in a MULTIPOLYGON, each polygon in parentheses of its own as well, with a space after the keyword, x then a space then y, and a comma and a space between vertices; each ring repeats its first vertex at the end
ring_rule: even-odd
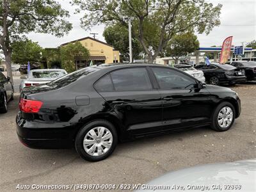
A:
POLYGON ((224 107, 220 110, 218 114, 218 124, 222 128, 227 128, 230 126, 233 120, 233 111, 230 107, 224 107))

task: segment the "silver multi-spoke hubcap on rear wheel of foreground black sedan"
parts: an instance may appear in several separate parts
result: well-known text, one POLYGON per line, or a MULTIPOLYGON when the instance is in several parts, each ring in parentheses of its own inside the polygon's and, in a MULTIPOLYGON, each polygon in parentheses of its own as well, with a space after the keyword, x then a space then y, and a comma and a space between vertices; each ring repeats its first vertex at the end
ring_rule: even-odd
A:
POLYGON ((90 156, 102 156, 113 143, 113 135, 106 127, 94 127, 84 136, 83 147, 90 156))

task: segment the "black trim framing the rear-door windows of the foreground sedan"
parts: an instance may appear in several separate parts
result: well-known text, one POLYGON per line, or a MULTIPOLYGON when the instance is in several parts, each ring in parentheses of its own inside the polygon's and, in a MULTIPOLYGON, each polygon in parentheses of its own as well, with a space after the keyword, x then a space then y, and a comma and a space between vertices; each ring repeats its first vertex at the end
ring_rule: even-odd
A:
MULTIPOLYGON (((147 91, 147 92, 148 92, 148 91, 156 90, 156 88, 154 88, 154 85, 153 85, 153 83, 152 83, 152 78, 151 78, 151 76, 150 76, 150 72, 148 71, 147 66, 124 67, 124 68, 116 68, 115 70, 111 70, 111 71, 107 72, 106 74, 104 74, 103 76, 101 76, 99 79, 97 79, 97 81, 95 81, 95 83, 93 83, 93 88, 96 90, 95 84, 96 84, 101 78, 103 78, 104 76, 108 76, 108 75, 110 76, 111 83, 112 83, 112 86, 113 86, 113 91, 111 91, 111 92, 144 92, 144 91, 147 91), (147 71, 147 75, 148 75, 150 84, 151 84, 151 89, 149 89, 149 90, 116 90, 116 89, 115 89, 115 85, 114 85, 114 83, 113 83, 113 79, 112 79, 112 77, 111 77, 111 73, 112 73, 112 72, 115 72, 116 70, 124 70, 124 69, 130 69, 130 68, 145 68, 145 70, 147 71)), ((98 91, 96 90, 96 92, 98 92, 98 91)), ((98 93, 109 93, 109 92, 98 92, 98 93)))

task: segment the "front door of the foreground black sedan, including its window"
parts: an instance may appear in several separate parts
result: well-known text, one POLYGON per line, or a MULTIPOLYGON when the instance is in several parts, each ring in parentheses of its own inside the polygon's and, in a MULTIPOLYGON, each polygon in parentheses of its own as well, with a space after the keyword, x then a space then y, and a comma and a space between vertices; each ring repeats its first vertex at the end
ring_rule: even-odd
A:
POLYGON ((163 100, 163 129, 207 124, 211 99, 206 88, 196 89, 196 79, 174 68, 151 67, 163 100))

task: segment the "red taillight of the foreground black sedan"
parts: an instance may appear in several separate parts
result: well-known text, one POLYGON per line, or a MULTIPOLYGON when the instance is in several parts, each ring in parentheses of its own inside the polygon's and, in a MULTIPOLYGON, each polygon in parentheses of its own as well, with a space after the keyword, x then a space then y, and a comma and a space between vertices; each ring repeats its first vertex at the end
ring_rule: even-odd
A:
POLYGON ((42 104, 40 100, 20 99, 19 108, 24 113, 38 113, 42 104))

